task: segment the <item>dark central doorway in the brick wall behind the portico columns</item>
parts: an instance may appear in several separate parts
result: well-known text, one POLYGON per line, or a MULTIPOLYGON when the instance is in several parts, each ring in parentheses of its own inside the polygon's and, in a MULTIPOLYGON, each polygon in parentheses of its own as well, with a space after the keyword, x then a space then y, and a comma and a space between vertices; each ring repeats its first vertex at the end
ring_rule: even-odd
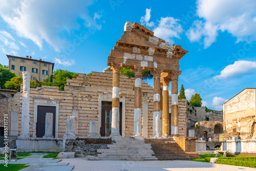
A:
MULTIPOLYGON (((109 137, 111 134, 111 121, 112 121, 112 102, 101 102, 101 126, 100 136, 109 137)), ((122 102, 120 102, 119 108, 119 133, 122 136, 122 102)))

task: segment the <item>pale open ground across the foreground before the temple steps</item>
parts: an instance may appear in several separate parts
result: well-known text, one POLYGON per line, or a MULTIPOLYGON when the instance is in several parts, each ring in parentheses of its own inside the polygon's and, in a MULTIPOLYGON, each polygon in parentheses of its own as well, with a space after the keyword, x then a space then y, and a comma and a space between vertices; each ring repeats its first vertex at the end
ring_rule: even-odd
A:
MULTIPOLYGON (((75 159, 62 159, 60 163, 70 163, 74 165, 74 171, 80 170, 104 170, 104 171, 205 171, 205 170, 224 170, 224 171, 235 171, 235 170, 256 170, 250 167, 241 166, 230 166, 224 164, 211 164, 197 161, 92 161, 83 158, 75 159)), ((72 170, 72 171, 73 171, 72 170)))

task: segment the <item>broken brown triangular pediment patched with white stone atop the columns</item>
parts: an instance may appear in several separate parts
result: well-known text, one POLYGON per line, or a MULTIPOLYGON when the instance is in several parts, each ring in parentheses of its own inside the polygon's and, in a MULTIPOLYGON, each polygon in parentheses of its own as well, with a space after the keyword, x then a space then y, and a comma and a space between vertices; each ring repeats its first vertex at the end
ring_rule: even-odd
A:
POLYGON ((123 67, 179 71, 179 59, 187 53, 181 46, 171 45, 154 36, 154 32, 138 23, 126 22, 121 38, 108 58, 108 65, 120 63, 123 67))

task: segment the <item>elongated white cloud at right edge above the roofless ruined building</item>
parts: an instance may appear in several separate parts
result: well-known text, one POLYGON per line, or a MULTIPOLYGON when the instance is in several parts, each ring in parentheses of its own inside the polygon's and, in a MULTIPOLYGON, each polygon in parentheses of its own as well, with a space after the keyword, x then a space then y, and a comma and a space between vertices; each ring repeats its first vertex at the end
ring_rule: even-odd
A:
POLYGON ((238 60, 233 64, 226 66, 220 75, 215 76, 214 78, 222 79, 229 78, 234 76, 239 76, 249 72, 255 72, 256 70, 256 62, 255 61, 246 61, 246 60, 238 60))

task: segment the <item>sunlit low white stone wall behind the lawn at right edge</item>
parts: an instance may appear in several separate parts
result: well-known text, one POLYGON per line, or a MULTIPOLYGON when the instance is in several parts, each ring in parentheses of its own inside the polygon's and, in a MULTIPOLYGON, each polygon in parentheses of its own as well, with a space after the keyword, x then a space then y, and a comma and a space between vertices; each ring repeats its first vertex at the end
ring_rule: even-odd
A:
POLYGON ((222 150, 231 153, 256 153, 256 138, 241 140, 233 137, 233 140, 224 140, 222 150))

